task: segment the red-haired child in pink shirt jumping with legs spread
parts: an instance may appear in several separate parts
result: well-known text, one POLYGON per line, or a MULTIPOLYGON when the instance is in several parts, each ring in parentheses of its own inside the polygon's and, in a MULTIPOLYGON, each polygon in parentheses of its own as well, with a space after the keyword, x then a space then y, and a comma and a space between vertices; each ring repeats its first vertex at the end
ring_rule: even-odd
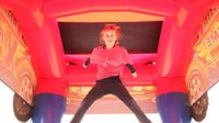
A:
POLYGON ((84 68, 90 63, 97 64, 97 80, 81 102, 71 123, 80 123, 89 107, 97 99, 110 93, 120 99, 135 113, 140 123, 151 123, 120 80, 124 66, 128 67, 132 77, 137 77, 137 72, 128 57, 128 52, 118 45, 120 38, 120 27, 116 24, 106 24, 101 31, 101 45, 93 49, 91 56, 83 64, 84 68))

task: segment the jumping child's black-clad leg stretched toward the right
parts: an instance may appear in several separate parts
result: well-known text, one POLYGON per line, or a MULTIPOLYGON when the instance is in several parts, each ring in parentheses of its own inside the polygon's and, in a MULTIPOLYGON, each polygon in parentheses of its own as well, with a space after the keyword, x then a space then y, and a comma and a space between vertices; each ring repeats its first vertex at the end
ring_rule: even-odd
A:
POLYGON ((151 123, 119 80, 115 82, 115 89, 112 93, 118 97, 135 113, 140 123, 151 123))

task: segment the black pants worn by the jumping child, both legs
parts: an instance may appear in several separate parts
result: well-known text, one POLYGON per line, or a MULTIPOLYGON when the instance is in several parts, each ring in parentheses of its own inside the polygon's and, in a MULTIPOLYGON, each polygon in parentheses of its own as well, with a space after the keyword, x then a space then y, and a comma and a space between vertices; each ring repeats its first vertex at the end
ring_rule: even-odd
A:
POLYGON ((80 123, 89 107, 105 94, 114 94, 119 98, 137 116, 140 123, 151 123, 143 114, 140 107, 131 98, 128 90, 124 87, 118 76, 97 80, 96 85, 87 94, 74 114, 71 123, 80 123))

